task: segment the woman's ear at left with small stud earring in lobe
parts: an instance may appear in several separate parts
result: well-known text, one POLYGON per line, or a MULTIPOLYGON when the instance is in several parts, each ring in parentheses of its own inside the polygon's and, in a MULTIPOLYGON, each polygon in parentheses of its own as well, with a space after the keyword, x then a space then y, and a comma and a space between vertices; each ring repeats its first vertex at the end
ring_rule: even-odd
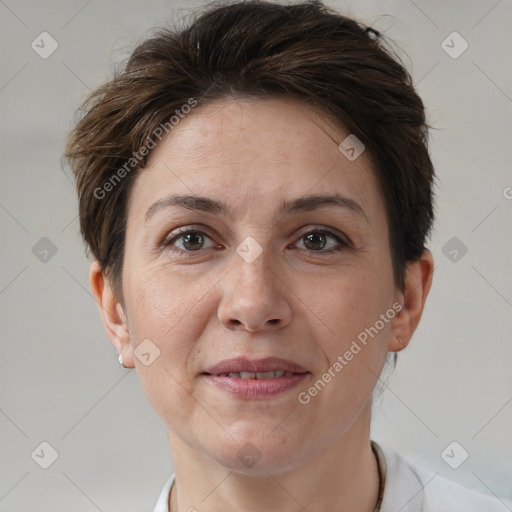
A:
POLYGON ((112 292, 110 283, 103 275, 97 260, 94 260, 91 264, 89 282, 98 304, 107 336, 117 352, 123 355, 123 365, 126 368, 134 368, 133 351, 130 346, 130 331, 125 312, 121 302, 112 292))

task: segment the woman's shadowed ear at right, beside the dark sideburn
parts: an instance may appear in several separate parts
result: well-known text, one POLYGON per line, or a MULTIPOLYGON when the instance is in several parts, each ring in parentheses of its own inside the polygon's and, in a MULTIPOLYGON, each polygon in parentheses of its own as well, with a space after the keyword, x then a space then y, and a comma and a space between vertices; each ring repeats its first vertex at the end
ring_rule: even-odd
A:
POLYGON ((399 352, 411 341, 432 286, 433 273, 434 258, 428 249, 423 251, 418 261, 407 265, 405 288, 397 296, 403 308, 392 320, 389 352, 399 352))

